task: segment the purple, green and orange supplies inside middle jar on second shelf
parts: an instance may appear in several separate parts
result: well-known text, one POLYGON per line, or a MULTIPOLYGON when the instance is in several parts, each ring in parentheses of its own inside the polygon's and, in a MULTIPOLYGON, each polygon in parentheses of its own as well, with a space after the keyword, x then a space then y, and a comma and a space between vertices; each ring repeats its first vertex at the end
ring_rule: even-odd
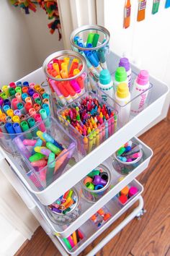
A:
POLYGON ((99 190, 106 186, 108 174, 102 168, 94 169, 84 179, 84 185, 91 190, 99 190))

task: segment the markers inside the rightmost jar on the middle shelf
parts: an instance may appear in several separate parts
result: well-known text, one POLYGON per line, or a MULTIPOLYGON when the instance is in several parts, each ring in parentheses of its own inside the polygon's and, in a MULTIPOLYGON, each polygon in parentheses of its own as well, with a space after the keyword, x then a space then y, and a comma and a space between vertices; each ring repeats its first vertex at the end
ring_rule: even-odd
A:
POLYGON ((142 145, 135 145, 133 147, 133 142, 130 140, 125 145, 123 145, 116 152, 116 157, 125 163, 133 163, 133 161, 140 160, 142 156, 142 145))

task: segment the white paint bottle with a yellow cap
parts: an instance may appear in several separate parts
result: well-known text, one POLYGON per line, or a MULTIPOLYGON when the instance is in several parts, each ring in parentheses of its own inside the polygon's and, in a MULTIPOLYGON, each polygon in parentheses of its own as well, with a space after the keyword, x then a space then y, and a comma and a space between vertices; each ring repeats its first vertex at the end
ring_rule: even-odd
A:
POLYGON ((130 119, 130 91, 128 84, 122 82, 117 86, 115 93, 115 108, 118 111, 118 124, 123 127, 130 119))

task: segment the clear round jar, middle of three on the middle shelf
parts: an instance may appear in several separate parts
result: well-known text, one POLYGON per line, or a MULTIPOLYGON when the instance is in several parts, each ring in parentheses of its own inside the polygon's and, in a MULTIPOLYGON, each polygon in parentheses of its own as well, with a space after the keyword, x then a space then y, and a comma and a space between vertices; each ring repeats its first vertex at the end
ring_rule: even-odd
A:
MULTIPOLYGON (((97 202, 110 189, 111 174, 110 174, 109 168, 107 168, 107 166, 104 166, 103 164, 100 164, 99 166, 97 166, 97 168, 95 168, 95 170, 97 170, 98 168, 102 169, 102 171, 107 173, 107 176, 108 176, 107 184, 102 189, 92 190, 92 189, 89 189, 88 187, 86 187, 86 185, 84 184, 85 178, 83 180, 81 180, 82 194, 84 195, 84 198, 88 202, 97 202)), ((88 177, 88 176, 86 176, 86 177, 88 177)))

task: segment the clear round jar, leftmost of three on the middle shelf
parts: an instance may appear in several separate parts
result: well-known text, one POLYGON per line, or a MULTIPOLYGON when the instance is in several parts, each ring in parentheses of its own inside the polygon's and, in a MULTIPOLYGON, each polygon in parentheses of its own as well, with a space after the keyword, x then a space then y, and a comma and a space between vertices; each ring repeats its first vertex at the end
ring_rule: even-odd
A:
MULTIPOLYGON (((75 188, 72 188, 72 190, 73 190, 72 198, 76 200, 76 202, 73 204, 73 208, 70 211, 66 212, 65 214, 63 212, 56 213, 53 210, 51 210, 50 206, 46 206, 46 213, 50 218, 50 220, 53 221, 53 223, 64 226, 75 221, 76 218, 79 217, 81 213, 81 203, 79 199, 79 193, 76 191, 75 188)), ((57 201, 58 200, 56 200, 56 203, 57 201)))

